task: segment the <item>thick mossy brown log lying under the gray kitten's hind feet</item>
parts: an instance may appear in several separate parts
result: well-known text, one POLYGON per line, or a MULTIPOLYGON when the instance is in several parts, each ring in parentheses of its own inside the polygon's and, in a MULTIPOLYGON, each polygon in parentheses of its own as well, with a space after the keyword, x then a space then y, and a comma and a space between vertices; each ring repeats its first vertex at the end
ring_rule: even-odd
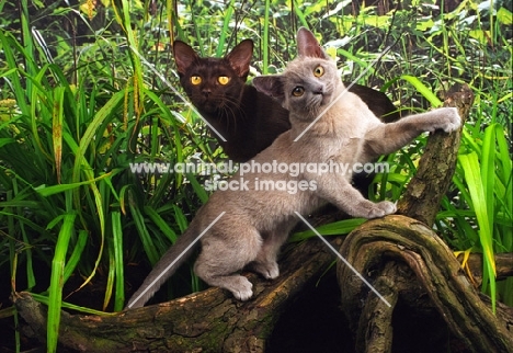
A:
MULTIPOLYGON (((341 241, 339 241, 340 246, 341 241)), ((255 299, 240 303, 219 288, 112 316, 62 311, 59 343, 80 352, 264 352, 265 341, 288 300, 333 261, 311 240, 287 248, 281 276, 266 282, 249 274, 255 299)), ((44 341, 46 307, 22 293, 15 306, 25 333, 44 341)))

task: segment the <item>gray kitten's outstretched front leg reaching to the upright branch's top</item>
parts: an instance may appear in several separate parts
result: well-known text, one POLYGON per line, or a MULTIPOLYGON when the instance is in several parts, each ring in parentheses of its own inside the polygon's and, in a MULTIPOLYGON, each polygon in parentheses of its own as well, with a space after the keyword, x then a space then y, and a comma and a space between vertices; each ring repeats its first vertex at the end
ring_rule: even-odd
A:
POLYGON ((398 122, 380 124, 365 135, 364 153, 369 160, 394 152, 421 133, 442 129, 454 132, 461 125, 456 107, 440 107, 431 112, 409 115, 398 122))

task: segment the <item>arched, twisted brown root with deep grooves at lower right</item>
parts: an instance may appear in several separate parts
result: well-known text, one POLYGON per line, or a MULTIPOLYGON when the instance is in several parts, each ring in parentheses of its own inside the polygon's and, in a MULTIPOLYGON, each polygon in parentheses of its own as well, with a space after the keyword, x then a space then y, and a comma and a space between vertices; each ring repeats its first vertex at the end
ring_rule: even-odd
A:
POLYGON ((391 301, 388 308, 374 294, 368 294, 352 271, 339 264, 339 284, 344 288, 342 307, 357 333, 358 352, 390 352, 371 348, 375 346, 377 338, 388 338, 378 329, 391 329, 398 300, 410 310, 433 306, 451 331, 472 352, 513 350, 513 309, 499 306, 499 314, 494 316, 490 306, 481 301, 453 252, 424 224, 398 215, 367 221, 347 237, 341 253, 358 272, 371 273, 376 289, 391 301), (407 269, 390 271, 395 263, 407 269), (414 274, 413 281, 396 281, 409 278, 411 274, 414 274), (367 298, 364 305, 362 298, 367 298), (362 311, 377 312, 383 319, 375 322, 373 315, 361 317, 362 311))

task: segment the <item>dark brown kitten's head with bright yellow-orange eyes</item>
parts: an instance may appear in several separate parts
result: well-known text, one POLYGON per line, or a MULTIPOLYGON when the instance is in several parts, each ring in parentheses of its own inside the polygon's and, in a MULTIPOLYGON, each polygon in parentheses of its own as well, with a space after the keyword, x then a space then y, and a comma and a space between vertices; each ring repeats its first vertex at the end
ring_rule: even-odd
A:
POLYGON ((189 45, 173 45, 180 82, 192 103, 204 113, 237 110, 249 72, 252 42, 243 41, 225 58, 201 58, 189 45))

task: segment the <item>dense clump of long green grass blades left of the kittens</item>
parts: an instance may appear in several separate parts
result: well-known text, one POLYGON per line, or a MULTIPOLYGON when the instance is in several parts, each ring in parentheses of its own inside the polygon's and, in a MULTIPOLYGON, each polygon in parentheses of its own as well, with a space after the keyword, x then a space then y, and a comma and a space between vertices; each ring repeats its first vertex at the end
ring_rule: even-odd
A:
MULTIPOLYGON (((129 29, 124 5, 118 20, 129 29)), ((132 32, 126 38, 136 45, 132 32)), ((205 198, 187 180, 133 173, 130 163, 181 161, 205 147, 190 137, 186 119, 148 89, 133 52, 99 44, 99 37, 98 49, 111 50, 123 67, 109 70, 79 60, 67 76, 54 64, 66 57, 49 60, 37 55, 30 32, 24 39, 22 46, 0 30, 8 64, 1 71, 8 92, 0 129, 0 218, 8 225, 0 239, 1 265, 12 269, 13 289, 47 298, 53 352, 68 280, 75 277, 66 289, 70 294, 106 276, 101 308, 121 310, 126 263, 145 258, 155 263, 186 227, 185 214, 205 198), (47 266, 50 276, 37 277, 35 266, 47 266), (26 287, 16 286, 23 276, 19 269, 26 272, 21 281, 26 287)))

